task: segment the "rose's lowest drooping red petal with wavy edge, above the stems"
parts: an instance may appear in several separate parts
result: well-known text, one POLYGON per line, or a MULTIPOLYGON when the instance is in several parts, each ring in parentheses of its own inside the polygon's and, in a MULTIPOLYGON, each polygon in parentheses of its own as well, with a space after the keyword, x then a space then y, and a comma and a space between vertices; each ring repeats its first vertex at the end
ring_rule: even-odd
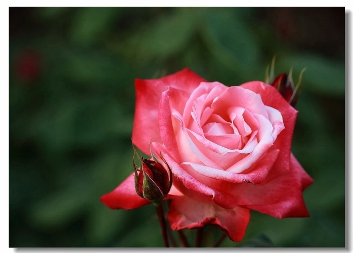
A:
POLYGON ((199 228, 206 224, 218 225, 231 240, 241 241, 250 220, 250 210, 240 206, 223 209, 184 196, 172 200, 168 220, 174 230, 199 228))

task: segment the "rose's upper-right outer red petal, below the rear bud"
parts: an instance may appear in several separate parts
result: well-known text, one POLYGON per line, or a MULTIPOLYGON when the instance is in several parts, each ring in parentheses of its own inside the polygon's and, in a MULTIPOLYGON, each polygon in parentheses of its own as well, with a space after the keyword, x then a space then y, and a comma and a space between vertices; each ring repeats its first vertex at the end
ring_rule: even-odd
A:
POLYGON ((277 161, 275 162, 268 180, 277 177, 279 174, 289 170, 289 160, 291 156, 292 137, 297 119, 298 111, 295 110, 282 95, 271 85, 261 81, 252 81, 242 84, 241 87, 252 90, 260 94, 263 103, 279 110, 283 117, 285 129, 277 136, 274 148, 279 149, 277 161))

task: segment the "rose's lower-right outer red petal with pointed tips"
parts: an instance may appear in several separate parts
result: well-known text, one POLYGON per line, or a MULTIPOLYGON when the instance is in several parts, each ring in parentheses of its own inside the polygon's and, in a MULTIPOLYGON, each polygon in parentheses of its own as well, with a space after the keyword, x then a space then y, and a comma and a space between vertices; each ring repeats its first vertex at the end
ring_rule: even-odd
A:
POLYGON ((258 185, 249 186, 242 194, 247 198, 247 208, 275 216, 306 217, 302 191, 313 180, 291 154, 290 170, 280 177, 258 185))

